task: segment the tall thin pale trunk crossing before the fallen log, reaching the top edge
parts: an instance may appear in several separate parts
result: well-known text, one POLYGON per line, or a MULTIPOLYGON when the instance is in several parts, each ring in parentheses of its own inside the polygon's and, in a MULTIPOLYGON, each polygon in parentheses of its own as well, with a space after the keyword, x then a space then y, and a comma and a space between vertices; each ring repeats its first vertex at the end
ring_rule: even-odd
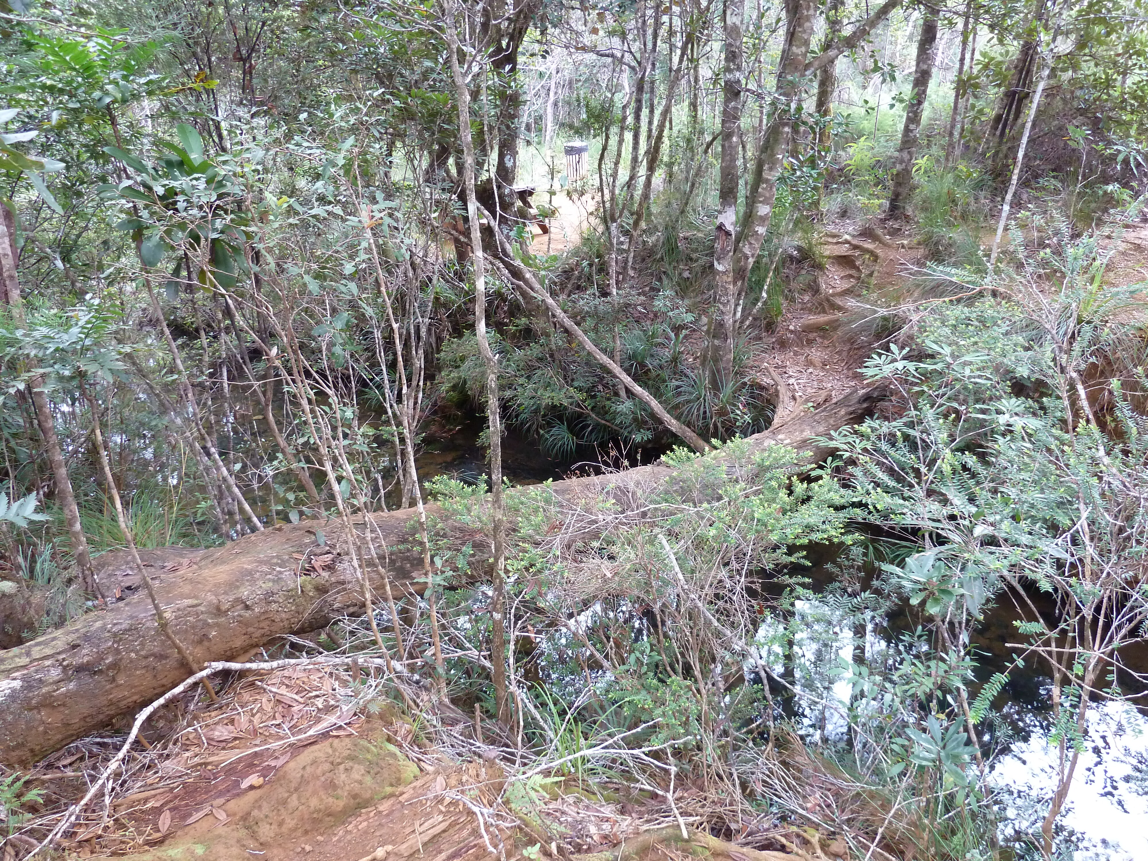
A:
MULTIPOLYGON (((490 349, 487 338, 487 287, 486 267, 482 255, 482 233, 479 227, 479 201, 474 194, 474 144, 471 140, 471 94, 458 64, 458 31, 455 20, 455 0, 445 1, 447 45, 450 54, 450 71, 455 79, 455 98, 458 101, 458 127, 463 145, 463 185, 466 192, 466 216, 471 228, 471 263, 474 266, 474 334, 479 341, 479 352, 487 369, 487 419, 490 437, 490 515, 491 543, 494 550, 494 575, 490 590, 490 665, 495 687, 495 705, 498 721, 510 726, 510 704, 506 698, 506 623, 504 619, 505 572, 506 572, 506 510, 502 486, 502 420, 498 411, 498 360, 490 349)), ((502 239, 496 230, 494 234, 502 239)))

